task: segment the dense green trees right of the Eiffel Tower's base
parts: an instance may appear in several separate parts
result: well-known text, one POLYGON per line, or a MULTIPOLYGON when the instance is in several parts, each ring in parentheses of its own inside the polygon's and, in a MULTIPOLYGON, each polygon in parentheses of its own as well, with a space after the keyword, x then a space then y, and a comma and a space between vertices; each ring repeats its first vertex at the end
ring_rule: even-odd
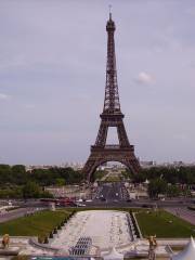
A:
POLYGON ((125 179, 131 179, 133 183, 150 181, 150 197, 158 197, 165 194, 168 197, 188 196, 190 188, 195 188, 195 167, 152 167, 141 169, 138 174, 126 170, 122 172, 125 179))

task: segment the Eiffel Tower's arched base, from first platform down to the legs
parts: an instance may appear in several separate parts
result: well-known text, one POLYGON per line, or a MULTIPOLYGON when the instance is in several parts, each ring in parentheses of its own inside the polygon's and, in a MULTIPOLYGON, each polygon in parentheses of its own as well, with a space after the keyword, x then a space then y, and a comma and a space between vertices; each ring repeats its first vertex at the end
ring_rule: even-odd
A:
POLYGON ((91 182, 96 168, 107 161, 118 161, 125 165, 133 174, 140 170, 140 165, 134 156, 134 147, 118 147, 118 145, 107 145, 109 147, 91 146, 91 154, 82 169, 84 179, 91 182))

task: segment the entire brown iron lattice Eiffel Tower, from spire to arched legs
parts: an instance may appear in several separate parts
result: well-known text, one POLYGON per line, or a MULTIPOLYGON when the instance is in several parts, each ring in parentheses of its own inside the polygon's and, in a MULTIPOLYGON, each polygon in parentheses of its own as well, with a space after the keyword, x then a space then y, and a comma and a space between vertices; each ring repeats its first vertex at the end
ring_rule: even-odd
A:
POLYGON ((119 161, 126 165, 133 173, 140 170, 140 164, 134 156, 134 146, 129 143, 122 120, 123 114, 120 110, 115 55, 115 23, 109 13, 109 20, 106 25, 107 65, 104 108, 100 115, 101 125, 95 144, 91 146, 91 154, 82 169, 88 181, 91 180, 96 168, 106 161, 119 161), (106 145, 109 127, 117 128, 118 145, 106 145))

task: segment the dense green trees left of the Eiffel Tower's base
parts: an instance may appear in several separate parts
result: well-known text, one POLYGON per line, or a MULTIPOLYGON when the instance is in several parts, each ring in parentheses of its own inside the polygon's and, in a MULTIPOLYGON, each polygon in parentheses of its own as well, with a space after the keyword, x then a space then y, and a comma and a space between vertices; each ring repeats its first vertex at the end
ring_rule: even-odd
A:
POLYGON ((69 167, 27 172, 23 165, 0 165, 0 198, 51 197, 51 194, 43 191, 44 186, 76 184, 82 180, 82 174, 69 167))

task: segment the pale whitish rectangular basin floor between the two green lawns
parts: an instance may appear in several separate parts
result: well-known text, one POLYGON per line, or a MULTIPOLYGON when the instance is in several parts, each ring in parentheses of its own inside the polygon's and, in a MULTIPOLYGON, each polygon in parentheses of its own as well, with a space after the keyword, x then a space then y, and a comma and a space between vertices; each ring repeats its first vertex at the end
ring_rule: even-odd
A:
POLYGON ((123 248, 132 243, 128 214, 115 210, 77 212, 50 245, 68 252, 81 236, 91 237, 92 245, 101 250, 123 248))

